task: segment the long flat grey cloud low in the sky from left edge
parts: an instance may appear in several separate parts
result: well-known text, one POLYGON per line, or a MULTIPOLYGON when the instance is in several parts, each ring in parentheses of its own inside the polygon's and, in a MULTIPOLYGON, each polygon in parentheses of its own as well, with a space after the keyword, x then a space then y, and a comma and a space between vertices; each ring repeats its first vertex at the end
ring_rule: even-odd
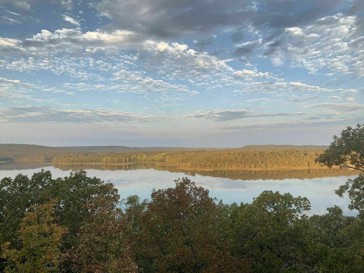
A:
POLYGON ((13 107, 0 108, 1 122, 57 122, 57 123, 103 123, 103 122, 158 122, 169 120, 165 116, 144 116, 109 109, 65 110, 54 107, 13 107))

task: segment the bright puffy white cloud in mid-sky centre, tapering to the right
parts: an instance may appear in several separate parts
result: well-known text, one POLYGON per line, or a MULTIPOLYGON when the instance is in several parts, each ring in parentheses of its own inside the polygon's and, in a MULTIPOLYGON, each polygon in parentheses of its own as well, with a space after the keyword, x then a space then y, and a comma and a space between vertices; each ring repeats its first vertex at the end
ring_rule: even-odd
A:
MULTIPOLYGON (((195 51, 187 44, 146 41, 144 49, 151 55, 146 68, 156 70, 169 79, 188 80, 195 86, 236 84, 254 78, 272 78, 271 73, 254 70, 235 70, 229 65, 233 59, 220 59, 207 52, 195 51), (196 82, 197 81, 197 82, 196 82)), ((207 91, 209 89, 206 89, 207 91)))

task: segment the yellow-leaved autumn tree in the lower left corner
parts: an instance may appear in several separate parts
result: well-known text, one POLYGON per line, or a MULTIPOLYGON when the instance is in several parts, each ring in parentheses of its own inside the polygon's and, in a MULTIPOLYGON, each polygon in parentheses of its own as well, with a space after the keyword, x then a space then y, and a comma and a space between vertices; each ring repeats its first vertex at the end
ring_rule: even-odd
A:
POLYGON ((20 249, 10 248, 10 242, 2 246, 4 272, 59 272, 59 247, 67 228, 54 223, 55 204, 56 200, 51 200, 48 204, 31 206, 31 211, 25 213, 18 231, 20 249))

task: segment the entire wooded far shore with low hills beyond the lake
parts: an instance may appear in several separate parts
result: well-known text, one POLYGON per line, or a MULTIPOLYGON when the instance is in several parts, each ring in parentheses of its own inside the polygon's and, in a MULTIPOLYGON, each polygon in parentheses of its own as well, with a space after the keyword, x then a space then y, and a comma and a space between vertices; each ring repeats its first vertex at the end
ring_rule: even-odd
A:
MULTIPOLYGON (((120 146, 96 146, 114 149, 120 146)), ((0 161, 52 160, 54 163, 129 164, 159 163, 182 169, 274 169, 320 168, 315 159, 321 146, 250 145, 234 149, 198 149, 130 152, 93 152, 90 147, 47 147, 27 144, 0 144, 0 161), (304 149, 310 147, 310 149, 304 149), (90 149, 91 149, 90 148, 90 149), (269 148, 269 149, 268 149, 269 148), (290 149, 291 148, 291 149, 290 149)), ((91 147, 92 148, 92 147, 91 147)), ((134 147, 124 147, 134 149, 134 147)), ((163 147, 150 147, 157 149, 163 147)), ((144 149, 144 148, 139 148, 144 149)), ((187 149, 187 148, 181 148, 187 149)))

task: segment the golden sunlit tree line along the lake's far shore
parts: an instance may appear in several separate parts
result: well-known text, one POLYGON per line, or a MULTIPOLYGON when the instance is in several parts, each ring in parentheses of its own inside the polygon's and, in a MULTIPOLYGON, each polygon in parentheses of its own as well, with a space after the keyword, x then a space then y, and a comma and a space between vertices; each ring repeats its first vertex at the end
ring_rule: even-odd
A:
POLYGON ((56 156, 54 163, 123 164, 154 162, 185 169, 272 169, 321 168, 315 159, 322 150, 264 150, 264 151, 171 151, 146 153, 89 153, 56 156))

